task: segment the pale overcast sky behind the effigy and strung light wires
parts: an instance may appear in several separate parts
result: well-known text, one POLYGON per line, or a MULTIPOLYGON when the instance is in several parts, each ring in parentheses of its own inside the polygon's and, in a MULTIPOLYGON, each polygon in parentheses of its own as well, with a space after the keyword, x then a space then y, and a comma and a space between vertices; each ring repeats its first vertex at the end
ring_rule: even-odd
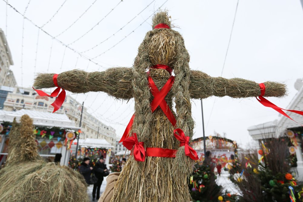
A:
MULTIPOLYGON (((82 53, 88 58, 98 56, 125 38, 95 58, 94 61, 99 64, 95 65, 76 52, 65 49, 65 46, 41 30, 37 40, 38 28, 28 20, 24 21, 22 60, 23 17, 6 6, 3 0, 0 1, 0 28, 7 34, 14 61, 11 69, 18 86, 32 86, 36 72, 60 73, 71 69, 103 71, 109 67, 131 67, 139 44, 145 33, 151 30, 151 18, 148 17, 163 3, 165 4, 161 8, 168 9, 173 23, 178 27, 174 29, 184 37, 191 56, 191 69, 203 71, 214 77, 221 75, 236 0, 167 2, 124 0, 118 4, 119 2, 119 0, 31 0, 28 4, 25 0, 9 0, 9 3, 22 14, 27 7, 25 16, 38 26, 46 23, 42 29, 52 36, 59 35, 72 25, 56 39, 64 44, 70 44, 84 35, 69 46, 77 52, 90 49, 82 53), (148 4, 150 5, 142 11, 148 4), (101 22, 98 24, 99 21, 101 22), (129 21, 131 22, 128 23, 129 21), (139 26, 140 24, 142 25, 139 26), (120 31, 117 32, 118 30, 120 31), (135 31, 132 32, 133 30, 135 31), (113 35, 115 32, 117 33, 113 35), (128 35, 129 33, 131 34, 128 35), (108 40, 102 42, 108 37, 110 37, 108 40), (91 49, 95 45, 98 46, 91 49)), ((303 10, 299 0, 240 0, 222 76, 239 77, 255 82, 284 82, 288 87, 288 96, 269 100, 285 108, 297 92, 294 88, 296 79, 303 77, 302 36, 303 10)), ((133 114, 133 100, 128 103, 122 102, 102 92, 73 96, 79 102, 85 100, 85 107, 93 115, 114 127, 118 137, 122 136, 133 114)), ((262 106, 255 98, 210 97, 203 100, 203 109, 206 136, 214 135, 214 131, 226 133, 227 138, 236 140, 243 146, 248 146, 252 140, 247 131, 249 126, 278 118, 275 110, 262 106)), ((200 137, 202 136, 200 100, 192 100, 192 116, 196 123, 195 137, 200 137)))

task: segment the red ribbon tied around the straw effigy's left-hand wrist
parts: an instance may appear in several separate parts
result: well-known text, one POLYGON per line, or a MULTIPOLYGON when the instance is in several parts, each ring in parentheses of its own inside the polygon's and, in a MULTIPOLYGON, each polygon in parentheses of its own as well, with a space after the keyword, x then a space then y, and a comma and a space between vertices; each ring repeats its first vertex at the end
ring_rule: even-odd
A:
MULTIPOLYGON (((48 95, 47 93, 43 92, 42 90, 36 90, 33 89, 38 93, 39 96, 48 96, 48 97, 57 97, 61 88, 58 86, 58 81, 57 81, 57 78, 58 78, 58 74, 55 74, 53 76, 53 81, 54 81, 54 84, 55 86, 57 87, 50 95, 48 95)), ((55 101, 51 104, 53 107, 54 107, 54 111, 57 111, 58 109, 60 109, 60 107, 62 106, 62 104, 64 103, 64 100, 65 100, 65 96, 66 96, 66 92, 65 90, 62 88, 62 91, 61 93, 59 94, 59 96, 55 99, 55 101)))

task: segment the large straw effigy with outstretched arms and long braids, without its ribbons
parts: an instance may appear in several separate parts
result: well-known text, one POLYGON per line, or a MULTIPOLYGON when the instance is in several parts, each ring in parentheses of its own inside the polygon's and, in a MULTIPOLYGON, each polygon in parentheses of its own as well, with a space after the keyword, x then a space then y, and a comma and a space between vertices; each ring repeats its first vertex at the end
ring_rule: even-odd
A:
MULTIPOLYGON (((164 23, 171 27, 167 12, 158 12, 152 27, 164 23)), ((255 97, 260 95, 258 83, 245 79, 214 78, 200 71, 189 69, 189 54, 182 36, 172 29, 153 29, 145 35, 138 48, 132 68, 111 68, 104 72, 72 70, 58 76, 58 86, 73 93, 104 91, 119 99, 135 99, 135 119, 130 134, 137 133, 138 141, 145 147, 177 150, 175 158, 146 157, 139 162, 129 158, 114 187, 112 202, 120 201, 178 201, 191 200, 187 177, 192 171, 193 160, 185 156, 184 146, 174 137, 180 128, 190 139, 194 121, 191 117, 190 99, 209 96, 255 97), (160 108, 151 112, 150 93, 146 70, 154 65, 167 65, 174 69, 175 81, 165 101, 172 109, 175 104, 177 124, 174 128, 160 108)), ((36 88, 55 87, 54 74, 38 74, 36 88)), ((149 69, 149 75, 158 89, 170 77, 164 69, 149 69)), ((265 82, 265 96, 284 96, 285 85, 265 82)))

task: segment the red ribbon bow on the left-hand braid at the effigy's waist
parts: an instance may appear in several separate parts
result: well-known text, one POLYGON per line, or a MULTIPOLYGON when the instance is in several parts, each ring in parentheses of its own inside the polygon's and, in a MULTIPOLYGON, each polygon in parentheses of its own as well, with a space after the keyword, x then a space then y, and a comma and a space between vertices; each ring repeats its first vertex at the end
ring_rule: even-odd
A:
POLYGON ((144 142, 138 142, 136 133, 133 133, 133 136, 125 139, 122 144, 128 150, 134 148, 133 154, 136 161, 145 161, 144 142))

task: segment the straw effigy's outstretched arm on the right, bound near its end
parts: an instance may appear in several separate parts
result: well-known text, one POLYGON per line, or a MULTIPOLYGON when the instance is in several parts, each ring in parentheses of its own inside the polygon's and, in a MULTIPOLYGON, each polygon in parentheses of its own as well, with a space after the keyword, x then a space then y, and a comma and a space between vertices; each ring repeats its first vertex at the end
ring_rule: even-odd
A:
MULTIPOLYGON (((265 97, 282 97, 285 95, 284 84, 267 81, 265 84, 265 97)), ((203 99, 209 96, 230 96, 233 98, 257 97, 261 94, 258 83, 250 80, 222 77, 211 77, 204 72, 191 70, 189 85, 191 98, 203 99)))

